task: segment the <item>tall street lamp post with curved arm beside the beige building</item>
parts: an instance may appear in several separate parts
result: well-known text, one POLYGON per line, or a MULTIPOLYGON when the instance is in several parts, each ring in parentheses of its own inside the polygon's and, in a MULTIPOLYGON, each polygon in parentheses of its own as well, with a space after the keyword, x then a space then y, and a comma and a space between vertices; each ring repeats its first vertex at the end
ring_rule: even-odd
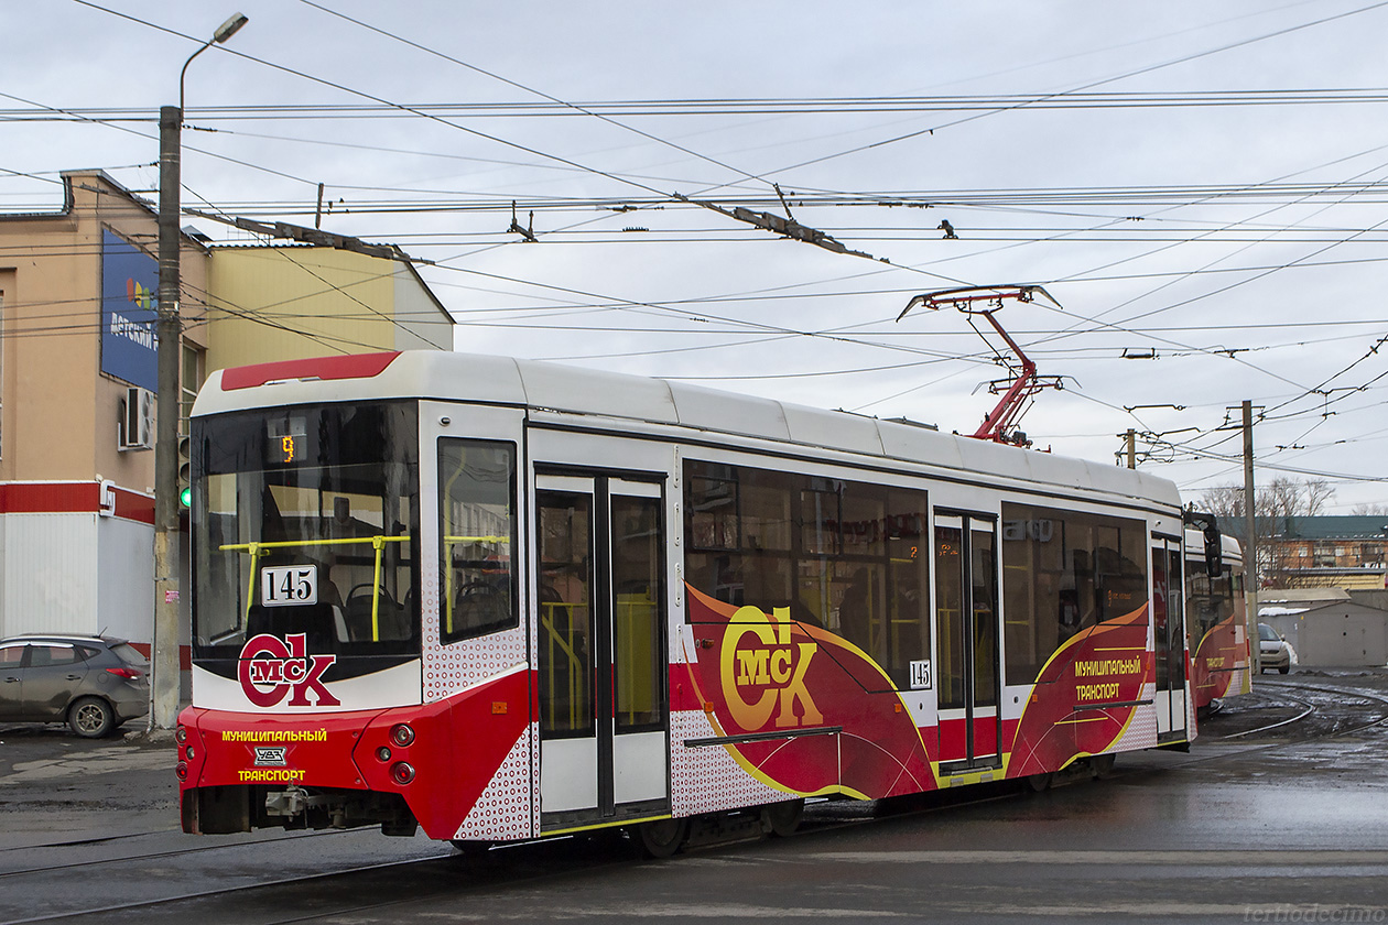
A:
POLYGON ((246 25, 237 12, 212 33, 183 62, 178 75, 178 105, 160 107, 160 304, 158 336, 158 427, 154 440, 154 645, 151 729, 171 729, 178 721, 179 703, 179 555, 178 555, 178 420, 179 361, 183 330, 179 320, 179 151, 183 129, 183 76, 193 58, 212 43, 230 39, 246 25))

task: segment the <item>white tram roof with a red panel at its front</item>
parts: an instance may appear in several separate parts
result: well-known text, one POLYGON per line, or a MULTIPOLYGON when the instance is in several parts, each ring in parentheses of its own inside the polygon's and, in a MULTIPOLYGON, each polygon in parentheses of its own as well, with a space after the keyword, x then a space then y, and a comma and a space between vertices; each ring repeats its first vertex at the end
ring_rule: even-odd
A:
POLYGON ((1176 485, 1112 463, 1020 449, 909 423, 663 379, 544 361, 447 351, 361 354, 240 366, 212 373, 197 416, 373 398, 434 398, 509 405, 672 426, 815 449, 833 449, 963 473, 1140 498, 1178 508, 1176 485), (271 395, 260 387, 273 388, 271 395))

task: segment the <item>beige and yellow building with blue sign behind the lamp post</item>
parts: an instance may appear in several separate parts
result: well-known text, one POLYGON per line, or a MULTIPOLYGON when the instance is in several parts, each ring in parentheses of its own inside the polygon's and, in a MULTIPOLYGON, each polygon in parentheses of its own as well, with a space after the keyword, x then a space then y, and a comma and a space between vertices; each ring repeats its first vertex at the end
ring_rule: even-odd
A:
MULTIPOLYGON (((0 215, 0 637, 147 643, 155 207, 100 171, 64 173, 62 191, 56 211, 0 215)), ((222 366, 452 348, 448 313, 408 262, 182 244, 185 416, 222 366)))

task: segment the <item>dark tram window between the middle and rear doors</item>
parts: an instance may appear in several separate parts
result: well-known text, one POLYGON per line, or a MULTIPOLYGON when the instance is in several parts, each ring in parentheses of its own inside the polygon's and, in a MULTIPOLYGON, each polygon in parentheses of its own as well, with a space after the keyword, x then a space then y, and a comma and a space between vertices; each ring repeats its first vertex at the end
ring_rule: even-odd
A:
POLYGON ((1138 520, 1002 505, 1008 684, 1030 684, 1067 639, 1146 602, 1146 530, 1138 520))

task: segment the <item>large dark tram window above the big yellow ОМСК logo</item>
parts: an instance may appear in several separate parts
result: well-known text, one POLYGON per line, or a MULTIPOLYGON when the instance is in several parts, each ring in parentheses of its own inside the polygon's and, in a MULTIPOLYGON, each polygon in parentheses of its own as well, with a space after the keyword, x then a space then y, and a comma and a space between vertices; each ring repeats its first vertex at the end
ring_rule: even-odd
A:
POLYGON ((899 685, 930 657, 926 492, 686 462, 686 580, 829 630, 899 685))

